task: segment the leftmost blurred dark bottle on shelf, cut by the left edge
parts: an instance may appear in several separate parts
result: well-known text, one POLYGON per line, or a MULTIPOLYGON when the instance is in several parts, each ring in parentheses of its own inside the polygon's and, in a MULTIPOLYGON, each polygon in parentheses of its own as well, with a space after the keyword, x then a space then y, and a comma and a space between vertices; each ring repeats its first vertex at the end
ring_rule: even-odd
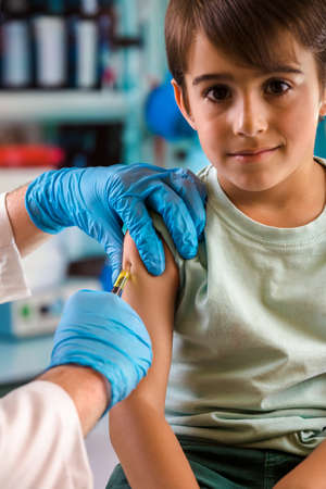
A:
POLYGON ((2 88, 30 88, 33 75, 28 2, 7 0, 3 2, 2 12, 2 88))

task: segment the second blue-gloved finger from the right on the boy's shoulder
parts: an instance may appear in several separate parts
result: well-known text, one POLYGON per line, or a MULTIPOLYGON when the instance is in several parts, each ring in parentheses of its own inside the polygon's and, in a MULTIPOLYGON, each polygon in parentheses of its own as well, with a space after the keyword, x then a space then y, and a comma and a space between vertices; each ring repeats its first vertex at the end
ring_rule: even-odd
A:
POLYGON ((166 185, 153 191, 147 202, 159 214, 184 259, 193 258, 198 250, 197 230, 183 199, 166 185))

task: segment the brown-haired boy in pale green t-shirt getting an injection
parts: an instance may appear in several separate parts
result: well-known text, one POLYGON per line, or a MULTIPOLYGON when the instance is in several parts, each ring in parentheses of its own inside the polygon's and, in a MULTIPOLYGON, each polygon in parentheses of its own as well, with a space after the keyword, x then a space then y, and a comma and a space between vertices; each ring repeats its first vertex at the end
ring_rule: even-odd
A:
MULTIPOLYGON (((158 224, 179 268, 174 326, 170 252, 154 278, 125 242, 124 298, 154 352, 111 414, 133 488, 326 487, 325 25, 324 0, 170 2, 176 101, 212 165, 197 258, 158 224)), ((129 487, 121 468, 111 487, 129 487)))

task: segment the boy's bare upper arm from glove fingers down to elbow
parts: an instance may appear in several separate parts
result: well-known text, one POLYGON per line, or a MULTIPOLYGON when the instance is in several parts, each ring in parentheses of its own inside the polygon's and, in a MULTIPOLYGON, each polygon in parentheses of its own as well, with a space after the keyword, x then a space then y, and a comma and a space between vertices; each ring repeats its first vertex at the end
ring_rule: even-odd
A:
POLYGON ((123 266, 130 269, 123 299, 142 318, 152 341, 153 362, 148 375, 131 393, 133 398, 146 398, 164 410, 165 392, 171 365, 174 304, 178 286, 178 269, 164 243, 165 272, 150 275, 129 234, 125 237, 123 266))

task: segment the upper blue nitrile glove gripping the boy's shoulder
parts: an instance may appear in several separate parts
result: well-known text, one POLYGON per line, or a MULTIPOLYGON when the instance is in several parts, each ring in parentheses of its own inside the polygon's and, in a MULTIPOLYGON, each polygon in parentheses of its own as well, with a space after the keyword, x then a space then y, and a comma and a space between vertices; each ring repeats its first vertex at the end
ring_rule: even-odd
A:
POLYGON ((147 206, 162 215, 180 255, 193 258, 205 224, 206 191, 190 172, 147 164, 63 168, 28 187, 26 209, 46 233, 78 226, 104 246, 116 278, 122 266, 122 223, 153 275, 165 268, 161 240, 147 206))

